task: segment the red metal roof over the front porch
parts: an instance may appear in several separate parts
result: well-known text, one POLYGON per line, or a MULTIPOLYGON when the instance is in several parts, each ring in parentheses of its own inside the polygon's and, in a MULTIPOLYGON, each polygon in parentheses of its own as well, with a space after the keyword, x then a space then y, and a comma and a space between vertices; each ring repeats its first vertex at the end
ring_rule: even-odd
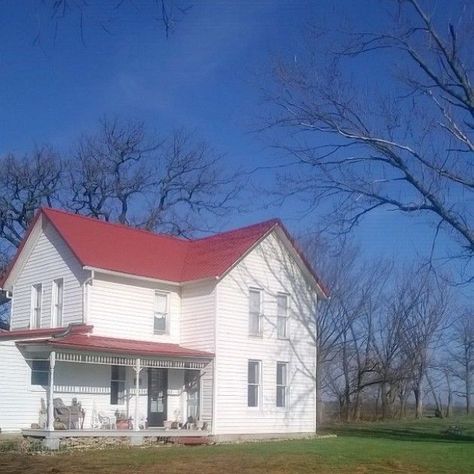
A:
MULTIPOLYGON (((34 342, 34 341, 21 341, 34 342)), ((143 355, 153 357, 180 357, 211 359, 210 352, 188 349, 178 344, 163 342, 137 341, 113 337, 91 336, 88 334, 69 334, 64 337, 52 337, 42 343, 58 349, 70 349, 88 352, 107 352, 123 355, 143 355)))

